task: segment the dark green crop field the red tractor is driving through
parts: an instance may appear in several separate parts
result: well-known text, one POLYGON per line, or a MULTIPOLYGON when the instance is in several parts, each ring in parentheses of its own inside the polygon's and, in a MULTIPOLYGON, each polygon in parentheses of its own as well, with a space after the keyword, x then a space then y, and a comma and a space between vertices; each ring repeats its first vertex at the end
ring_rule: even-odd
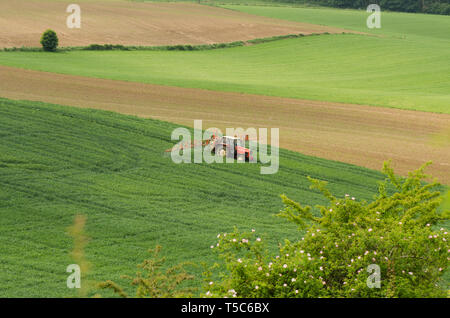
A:
MULTIPOLYGON (((296 238, 295 226, 274 214, 282 193, 325 203, 307 176, 357 200, 371 199, 383 179, 376 171, 284 150, 275 175, 261 175, 259 165, 249 163, 177 165, 164 153, 175 143, 175 127, 0 99, 0 297, 74 295, 65 270, 74 262, 66 230, 76 214, 87 216, 89 278, 123 284, 120 276, 132 275, 156 244, 168 264, 212 264, 210 245, 234 226, 256 229, 272 248, 296 238)), ((201 268, 192 270, 198 285, 201 268)))

